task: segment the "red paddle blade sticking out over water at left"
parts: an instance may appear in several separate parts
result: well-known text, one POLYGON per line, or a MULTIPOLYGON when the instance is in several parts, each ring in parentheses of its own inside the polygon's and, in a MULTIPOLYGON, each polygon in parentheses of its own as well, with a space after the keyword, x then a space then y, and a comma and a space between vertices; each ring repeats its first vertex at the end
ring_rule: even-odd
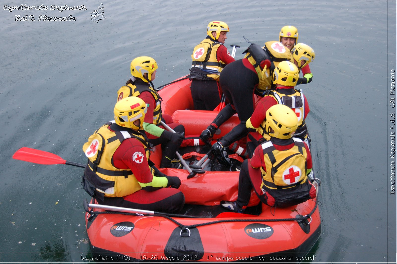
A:
POLYGON ((19 148, 12 158, 37 164, 66 164, 66 160, 54 153, 27 147, 19 148))

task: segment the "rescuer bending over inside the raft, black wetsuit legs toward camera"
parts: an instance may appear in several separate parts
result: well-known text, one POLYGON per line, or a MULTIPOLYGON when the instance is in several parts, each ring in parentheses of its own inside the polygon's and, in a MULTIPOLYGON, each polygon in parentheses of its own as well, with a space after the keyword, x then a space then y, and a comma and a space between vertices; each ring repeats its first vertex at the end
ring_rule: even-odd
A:
MULTIPOLYGON (((283 61, 291 61, 304 66, 301 60, 303 57, 291 54, 278 41, 268 41, 263 48, 257 44, 251 44, 245 52, 247 52, 245 58, 228 64, 221 72, 220 85, 229 104, 200 134, 200 139, 204 142, 212 139, 218 127, 237 112, 240 123, 211 148, 213 156, 217 156, 220 162, 225 164, 228 162, 226 150, 230 144, 239 139, 245 139, 247 136, 248 130, 245 123, 254 112, 254 94, 263 97, 274 87, 272 75, 275 67, 283 61)), ((304 59, 305 63, 310 62, 308 58, 304 57, 304 59)), ((236 148, 236 146, 233 147, 236 148)))

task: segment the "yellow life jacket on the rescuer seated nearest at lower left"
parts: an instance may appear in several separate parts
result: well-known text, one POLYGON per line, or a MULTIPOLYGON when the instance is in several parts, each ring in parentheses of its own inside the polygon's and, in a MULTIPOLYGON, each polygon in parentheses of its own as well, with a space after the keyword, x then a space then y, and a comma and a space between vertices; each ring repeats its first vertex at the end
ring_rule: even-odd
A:
MULTIPOLYGON (((137 159, 137 162, 143 158, 143 155, 149 160, 150 155, 145 135, 133 130, 113 132, 108 129, 112 123, 114 121, 109 121, 96 130, 89 137, 88 142, 83 145, 83 151, 88 158, 83 177, 89 178, 88 181, 92 183, 97 193, 102 196, 102 200, 103 196, 124 197, 141 190, 141 185, 139 185, 131 170, 118 169, 113 165, 113 154, 123 140, 135 138, 141 141, 145 148, 145 154, 137 152, 131 157, 132 159, 137 159)), ((154 170, 150 166, 149 170, 154 175, 154 170)))

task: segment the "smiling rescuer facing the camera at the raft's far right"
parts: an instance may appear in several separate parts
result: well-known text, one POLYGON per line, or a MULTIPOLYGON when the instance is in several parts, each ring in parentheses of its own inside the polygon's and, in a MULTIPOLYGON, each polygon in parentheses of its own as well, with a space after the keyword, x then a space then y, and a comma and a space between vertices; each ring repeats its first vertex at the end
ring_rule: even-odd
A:
MULTIPOLYGON (((294 26, 284 26, 280 30, 280 42, 289 50, 291 50, 291 53, 296 51, 296 48, 293 50, 295 47, 295 44, 298 43, 298 29, 294 26)), ((313 58, 312 61, 314 60, 314 52, 312 53, 313 58)), ((300 66, 298 66, 300 67, 300 66)), ((305 84, 305 83, 310 83, 313 79, 313 74, 310 71, 309 64, 306 64, 306 66, 302 67, 302 73, 303 77, 298 79, 297 84, 305 84)))

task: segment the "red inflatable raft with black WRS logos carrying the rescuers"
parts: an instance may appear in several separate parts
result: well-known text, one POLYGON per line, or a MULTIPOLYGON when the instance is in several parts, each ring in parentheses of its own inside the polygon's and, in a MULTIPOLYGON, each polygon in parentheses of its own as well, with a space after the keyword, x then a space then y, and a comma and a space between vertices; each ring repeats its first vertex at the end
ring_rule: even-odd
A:
MULTIPOLYGON (((198 135, 218 112, 187 110, 193 108, 189 85, 189 79, 182 77, 164 87, 159 92, 162 110, 185 126, 185 135, 198 135)), ((220 126, 217 136, 237 123, 233 116, 220 126)), ((154 148, 150 158, 158 165, 160 157, 161 149, 154 148)), ((252 191, 251 210, 240 214, 219 205, 221 200, 237 199, 239 172, 206 171, 187 179, 188 170, 160 170, 181 179, 179 190, 186 204, 179 215, 85 202, 87 233, 96 260, 298 263, 310 258, 306 255, 321 232, 315 200, 274 210, 259 203, 252 191), (110 214, 109 210, 131 213, 110 214)))

